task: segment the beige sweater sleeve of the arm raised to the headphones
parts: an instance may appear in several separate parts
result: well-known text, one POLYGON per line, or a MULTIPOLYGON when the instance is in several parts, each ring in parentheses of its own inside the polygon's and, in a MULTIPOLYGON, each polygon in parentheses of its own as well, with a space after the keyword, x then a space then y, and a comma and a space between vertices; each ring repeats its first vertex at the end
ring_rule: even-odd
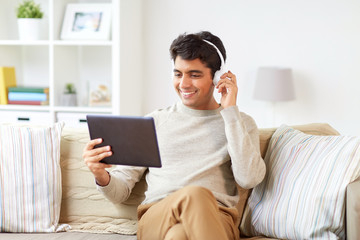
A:
POLYGON ((266 173, 256 123, 250 116, 239 112, 237 106, 223 109, 221 115, 235 181, 242 188, 253 188, 266 173))

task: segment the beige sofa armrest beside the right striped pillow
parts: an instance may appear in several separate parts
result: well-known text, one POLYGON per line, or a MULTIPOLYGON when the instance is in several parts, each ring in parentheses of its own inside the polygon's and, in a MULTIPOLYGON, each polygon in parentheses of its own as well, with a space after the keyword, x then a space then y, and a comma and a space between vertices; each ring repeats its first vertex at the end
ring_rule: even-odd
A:
POLYGON ((360 239, 360 178, 346 190, 346 239, 360 239))

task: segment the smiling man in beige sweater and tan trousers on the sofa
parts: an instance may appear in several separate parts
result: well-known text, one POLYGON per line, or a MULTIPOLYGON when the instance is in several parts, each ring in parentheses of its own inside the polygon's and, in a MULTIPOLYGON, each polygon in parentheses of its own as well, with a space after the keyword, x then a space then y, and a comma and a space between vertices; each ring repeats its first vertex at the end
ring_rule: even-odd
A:
MULTIPOLYGON (((148 189, 138 207, 138 239, 239 239, 238 183, 253 188, 265 175, 254 120, 236 106, 236 76, 227 71, 216 85, 213 77, 226 59, 221 40, 209 32, 183 34, 173 41, 174 88, 181 102, 157 110, 154 117, 162 168, 149 168, 148 189), (221 93, 221 103, 213 97, 221 93)), ((215 79, 217 80, 217 79, 215 79)), ((125 201, 147 168, 99 163, 110 147, 83 158, 99 190, 112 202, 125 201)))

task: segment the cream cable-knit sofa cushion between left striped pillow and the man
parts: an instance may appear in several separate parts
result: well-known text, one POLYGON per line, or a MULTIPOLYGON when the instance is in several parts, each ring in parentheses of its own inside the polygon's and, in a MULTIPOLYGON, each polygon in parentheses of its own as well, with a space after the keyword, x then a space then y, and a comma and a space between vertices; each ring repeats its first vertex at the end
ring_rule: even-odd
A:
POLYGON ((66 127, 61 138, 63 197, 60 222, 73 231, 135 234, 137 205, 144 199, 145 181, 135 186, 123 204, 113 204, 97 189, 93 174, 82 159, 90 140, 87 129, 66 127))

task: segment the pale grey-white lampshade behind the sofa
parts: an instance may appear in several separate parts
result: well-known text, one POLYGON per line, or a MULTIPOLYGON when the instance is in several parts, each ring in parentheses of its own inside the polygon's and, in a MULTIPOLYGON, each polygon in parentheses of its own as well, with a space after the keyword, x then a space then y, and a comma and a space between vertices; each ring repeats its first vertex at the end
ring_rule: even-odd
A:
POLYGON ((254 98, 272 102, 295 99, 291 69, 260 67, 257 72, 254 98))

